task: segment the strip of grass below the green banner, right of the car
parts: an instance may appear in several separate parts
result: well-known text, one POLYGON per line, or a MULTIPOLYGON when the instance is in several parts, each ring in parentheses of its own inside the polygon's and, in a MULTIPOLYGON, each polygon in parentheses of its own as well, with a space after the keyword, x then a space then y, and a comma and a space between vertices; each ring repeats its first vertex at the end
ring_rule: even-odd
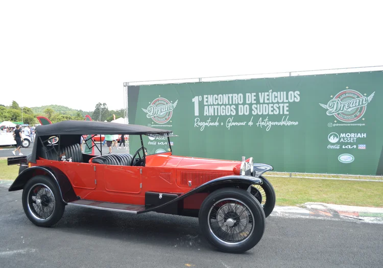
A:
POLYGON ((383 207, 383 182, 267 177, 273 184, 277 205, 306 202, 383 207))

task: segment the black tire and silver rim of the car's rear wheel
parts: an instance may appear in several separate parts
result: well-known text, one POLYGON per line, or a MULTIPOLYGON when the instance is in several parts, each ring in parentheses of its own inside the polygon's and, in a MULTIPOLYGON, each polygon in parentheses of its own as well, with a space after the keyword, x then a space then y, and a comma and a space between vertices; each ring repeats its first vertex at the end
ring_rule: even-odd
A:
POLYGON ((22 191, 22 207, 24 208, 24 212, 26 213, 28 219, 33 224, 41 227, 50 227, 56 224, 61 219, 64 213, 65 205, 61 200, 59 191, 60 190, 58 189, 56 184, 46 176, 35 176, 26 183, 22 191), (41 197, 41 199, 38 199, 40 200, 41 207, 47 207, 49 205, 52 206, 52 201, 54 201, 53 210, 47 217, 40 217, 38 215, 38 212, 36 212, 36 209, 34 208, 34 204, 36 206, 39 206, 39 204, 37 204, 37 200, 33 202, 33 190, 36 189, 37 191, 39 187, 41 188, 35 195, 35 200, 37 197, 41 197), (44 191, 44 193, 46 192, 49 195, 45 195, 44 197, 44 194, 42 194, 39 196, 38 194, 40 193, 40 191, 44 191), (52 196, 50 196, 51 193, 52 196))

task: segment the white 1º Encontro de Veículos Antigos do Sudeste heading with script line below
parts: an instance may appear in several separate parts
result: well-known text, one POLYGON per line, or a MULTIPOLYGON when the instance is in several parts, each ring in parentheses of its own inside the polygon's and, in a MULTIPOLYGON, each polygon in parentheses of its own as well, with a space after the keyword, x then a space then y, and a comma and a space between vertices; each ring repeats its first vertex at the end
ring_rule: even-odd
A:
POLYGON ((226 126, 228 130, 233 127, 252 126, 253 119, 257 120, 256 126, 269 131, 272 126, 295 126, 297 121, 290 121, 290 103, 300 101, 299 91, 251 92, 238 94, 209 94, 195 96, 194 127, 226 126), (201 107, 201 105, 203 105, 201 107), (200 119, 200 113, 208 118, 200 119), (262 117, 256 117, 264 115, 262 117), (269 115, 272 116, 269 119, 269 115), (224 116, 220 121, 219 117, 224 116), (245 117, 246 116, 246 117, 245 117), (248 117, 247 117, 248 116, 248 117), (251 116, 251 118, 250 118, 251 116), (280 116, 277 118, 276 116, 280 116), (217 117, 217 118, 215 118, 217 117), (250 119, 250 120, 249 120, 250 119))

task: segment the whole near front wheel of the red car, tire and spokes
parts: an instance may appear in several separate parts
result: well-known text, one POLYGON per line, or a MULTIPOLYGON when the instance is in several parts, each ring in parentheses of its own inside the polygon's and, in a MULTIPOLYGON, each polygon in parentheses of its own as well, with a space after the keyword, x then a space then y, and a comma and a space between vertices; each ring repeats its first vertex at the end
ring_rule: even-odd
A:
POLYGON ((237 188, 214 191, 203 201, 199 224, 208 241, 220 251, 243 253, 265 231, 265 214, 249 192, 237 188))

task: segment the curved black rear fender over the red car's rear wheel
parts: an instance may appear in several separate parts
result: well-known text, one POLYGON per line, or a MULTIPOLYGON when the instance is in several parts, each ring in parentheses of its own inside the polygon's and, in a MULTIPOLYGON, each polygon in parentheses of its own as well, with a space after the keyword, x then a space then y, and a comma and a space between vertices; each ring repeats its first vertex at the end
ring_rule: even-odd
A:
POLYGON ((22 190, 28 180, 36 175, 44 175, 49 177, 60 190, 61 199, 65 204, 78 199, 72 185, 69 182, 69 179, 65 176, 64 173, 61 172, 61 170, 55 167, 30 167, 21 171, 21 173, 9 187, 8 191, 12 192, 22 190))

